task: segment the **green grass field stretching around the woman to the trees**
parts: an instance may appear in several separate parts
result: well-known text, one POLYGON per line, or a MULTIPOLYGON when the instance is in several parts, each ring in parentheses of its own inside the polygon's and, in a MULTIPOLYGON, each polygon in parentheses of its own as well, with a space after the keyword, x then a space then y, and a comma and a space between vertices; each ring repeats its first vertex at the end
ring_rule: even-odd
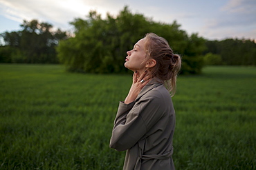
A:
MULTIPOLYGON (((176 169, 256 169, 256 67, 205 67, 177 83, 176 169)), ((122 169, 109 138, 130 85, 131 75, 0 65, 0 169, 122 169)))

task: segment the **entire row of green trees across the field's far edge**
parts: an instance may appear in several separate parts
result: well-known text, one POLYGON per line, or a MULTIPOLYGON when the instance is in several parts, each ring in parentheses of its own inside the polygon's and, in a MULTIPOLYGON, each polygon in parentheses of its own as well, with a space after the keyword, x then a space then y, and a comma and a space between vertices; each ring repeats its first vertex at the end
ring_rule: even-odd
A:
POLYGON ((255 65, 256 44, 246 39, 208 41, 198 34, 188 35, 181 25, 152 21, 143 14, 133 14, 125 6, 116 17, 107 13, 102 19, 97 11, 86 19, 70 23, 74 36, 53 30, 49 23, 36 19, 24 21, 21 31, 1 34, 1 63, 62 63, 71 72, 125 73, 127 50, 147 32, 165 37, 182 56, 182 74, 198 74, 203 65, 255 65))

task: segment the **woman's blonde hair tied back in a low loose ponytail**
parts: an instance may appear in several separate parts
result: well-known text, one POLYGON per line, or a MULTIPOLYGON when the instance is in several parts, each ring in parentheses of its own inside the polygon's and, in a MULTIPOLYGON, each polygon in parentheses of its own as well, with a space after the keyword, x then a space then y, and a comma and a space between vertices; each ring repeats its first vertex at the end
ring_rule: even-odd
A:
POLYGON ((148 69, 152 76, 163 81, 171 96, 174 96, 176 77, 181 70, 181 56, 174 54, 168 42, 154 33, 145 36, 145 53, 146 59, 156 60, 156 65, 148 69))

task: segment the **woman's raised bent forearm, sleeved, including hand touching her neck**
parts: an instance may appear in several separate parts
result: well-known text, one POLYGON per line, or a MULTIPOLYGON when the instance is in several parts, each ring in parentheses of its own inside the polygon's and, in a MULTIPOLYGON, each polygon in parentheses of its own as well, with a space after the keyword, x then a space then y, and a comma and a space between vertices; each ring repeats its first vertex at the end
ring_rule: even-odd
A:
POLYGON ((110 147, 118 151, 124 151, 132 147, 134 142, 138 141, 146 132, 144 121, 139 116, 140 104, 135 105, 135 100, 141 89, 149 82, 150 78, 146 74, 147 71, 138 77, 138 72, 134 72, 129 94, 125 98, 125 102, 119 104, 110 140, 110 147), (141 82, 141 80, 144 80, 144 82, 141 82))

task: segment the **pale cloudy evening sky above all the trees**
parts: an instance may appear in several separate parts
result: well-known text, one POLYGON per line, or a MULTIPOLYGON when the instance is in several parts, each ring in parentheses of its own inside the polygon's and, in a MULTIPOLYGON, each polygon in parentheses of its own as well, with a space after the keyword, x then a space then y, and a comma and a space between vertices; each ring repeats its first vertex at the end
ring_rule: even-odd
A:
POLYGON ((189 35, 205 39, 256 39, 256 0, 0 0, 0 33, 21 30, 26 19, 72 31, 69 23, 86 19, 90 10, 104 18, 125 6, 153 21, 176 21, 189 35))

